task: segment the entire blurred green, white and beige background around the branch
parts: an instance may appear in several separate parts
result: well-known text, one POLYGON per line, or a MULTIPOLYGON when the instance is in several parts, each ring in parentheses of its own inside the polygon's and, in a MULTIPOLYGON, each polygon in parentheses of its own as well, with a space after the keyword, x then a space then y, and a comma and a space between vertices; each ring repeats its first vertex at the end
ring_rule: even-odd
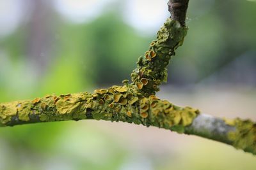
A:
MULTIPOLYGON (((118 85, 167 0, 1 0, 0 102, 118 85)), ((188 36, 157 96, 256 121, 256 2, 190 1, 188 36)), ((0 129, 0 169, 256 169, 256 157, 175 132, 83 120, 0 129)))

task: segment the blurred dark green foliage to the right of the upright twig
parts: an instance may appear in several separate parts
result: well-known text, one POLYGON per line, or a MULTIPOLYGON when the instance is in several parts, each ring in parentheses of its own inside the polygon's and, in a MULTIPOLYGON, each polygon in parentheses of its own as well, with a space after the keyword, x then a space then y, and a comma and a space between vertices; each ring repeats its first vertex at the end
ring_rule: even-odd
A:
MULTIPOLYGON (((216 0, 212 3, 200 0, 191 1, 189 5, 189 32, 168 70, 172 75, 170 83, 198 83, 237 58, 244 58, 245 53, 255 52, 256 24, 252 19, 256 13, 255 3, 232 0, 216 0)), ((250 57, 255 58, 255 55, 250 57)), ((253 62, 253 66, 256 66, 256 62, 253 62)), ((234 70, 232 74, 243 69, 246 66, 241 65, 240 70, 234 70)), ((253 76, 250 78, 255 79, 253 76)), ((223 81, 228 83, 231 78, 226 77, 223 81)), ((236 83, 244 82, 238 80, 236 83)), ((256 84, 252 85, 255 87, 256 84)))

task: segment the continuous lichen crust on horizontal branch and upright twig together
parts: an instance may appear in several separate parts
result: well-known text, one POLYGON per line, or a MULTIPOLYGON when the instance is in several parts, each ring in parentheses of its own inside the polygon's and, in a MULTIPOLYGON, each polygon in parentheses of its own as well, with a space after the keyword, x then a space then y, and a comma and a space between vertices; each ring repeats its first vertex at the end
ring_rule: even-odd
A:
POLYGON ((187 30, 188 27, 168 18, 157 32, 157 40, 152 41, 144 57, 140 57, 138 67, 131 74, 132 83, 124 80, 122 86, 95 90, 93 94, 53 95, 33 101, 3 103, 0 105, 0 124, 93 118, 180 131, 180 127, 191 124, 198 111, 179 108, 153 94, 166 81, 166 66, 175 49, 182 45, 187 30))

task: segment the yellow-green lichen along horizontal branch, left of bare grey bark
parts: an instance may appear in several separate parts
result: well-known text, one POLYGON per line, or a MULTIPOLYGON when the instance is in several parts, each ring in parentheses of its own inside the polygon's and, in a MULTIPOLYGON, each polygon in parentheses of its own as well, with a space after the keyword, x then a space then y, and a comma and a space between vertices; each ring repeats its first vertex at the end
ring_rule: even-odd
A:
POLYGON ((110 120, 156 126, 184 132, 199 111, 180 108, 156 96, 143 97, 125 83, 93 94, 45 96, 33 101, 0 104, 2 126, 61 120, 110 120))

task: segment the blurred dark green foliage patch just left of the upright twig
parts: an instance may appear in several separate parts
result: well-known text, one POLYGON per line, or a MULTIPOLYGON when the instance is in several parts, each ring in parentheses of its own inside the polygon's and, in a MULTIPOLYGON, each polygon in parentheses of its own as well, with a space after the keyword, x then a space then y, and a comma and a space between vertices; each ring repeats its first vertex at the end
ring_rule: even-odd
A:
POLYGON ((135 34, 118 16, 117 12, 106 13, 88 24, 86 30, 90 32, 87 40, 95 68, 93 80, 100 85, 129 78, 138 56, 148 48, 150 41, 135 34))

